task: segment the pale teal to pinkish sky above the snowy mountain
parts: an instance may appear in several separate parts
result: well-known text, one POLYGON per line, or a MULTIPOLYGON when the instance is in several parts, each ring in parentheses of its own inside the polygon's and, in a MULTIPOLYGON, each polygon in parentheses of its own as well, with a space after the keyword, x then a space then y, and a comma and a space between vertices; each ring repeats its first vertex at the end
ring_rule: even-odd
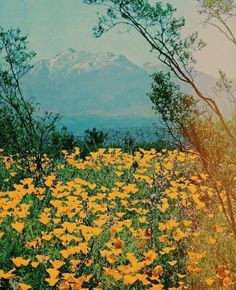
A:
MULTIPOLYGON (((186 18, 184 33, 198 31, 200 37, 208 43, 196 55, 196 69, 217 76, 220 68, 229 77, 236 78, 235 46, 215 28, 203 25, 197 1, 169 2, 177 8, 178 16, 186 18)), ((0 26, 4 29, 20 27, 28 35, 30 47, 37 53, 37 59, 47 59, 74 48, 123 54, 139 65, 156 62, 150 47, 135 32, 119 33, 113 30, 101 38, 94 38, 92 28, 96 24, 99 10, 99 7, 83 4, 82 0, 0 0, 0 26)), ((232 25, 236 30, 236 21, 232 25)))

